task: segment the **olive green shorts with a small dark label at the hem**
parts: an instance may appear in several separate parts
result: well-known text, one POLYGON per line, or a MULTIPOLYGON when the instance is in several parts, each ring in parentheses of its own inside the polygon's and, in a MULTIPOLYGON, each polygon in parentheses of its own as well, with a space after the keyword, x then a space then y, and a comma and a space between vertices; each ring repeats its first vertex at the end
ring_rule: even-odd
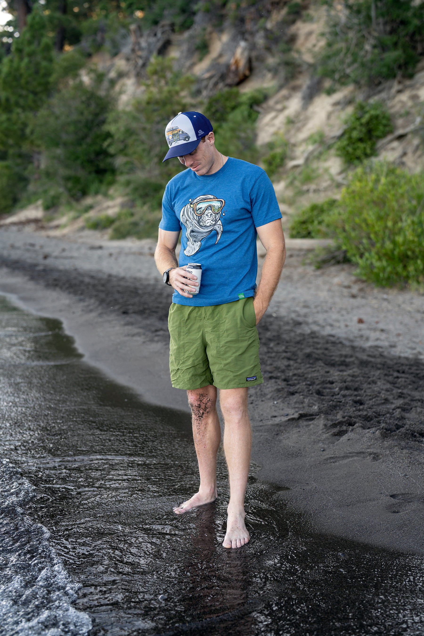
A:
POLYGON ((253 298, 212 307, 172 303, 169 366, 175 389, 262 384, 253 298))

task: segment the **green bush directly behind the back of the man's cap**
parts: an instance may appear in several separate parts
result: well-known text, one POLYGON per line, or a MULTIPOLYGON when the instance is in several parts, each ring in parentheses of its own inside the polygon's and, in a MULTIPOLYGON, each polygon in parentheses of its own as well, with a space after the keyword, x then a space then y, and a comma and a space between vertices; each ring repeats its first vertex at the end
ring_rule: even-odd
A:
POLYGON ((238 88, 226 88, 209 99, 205 114, 214 127, 215 146, 223 155, 256 162, 255 122, 259 112, 255 106, 266 99, 266 94, 264 90, 240 93, 238 88))

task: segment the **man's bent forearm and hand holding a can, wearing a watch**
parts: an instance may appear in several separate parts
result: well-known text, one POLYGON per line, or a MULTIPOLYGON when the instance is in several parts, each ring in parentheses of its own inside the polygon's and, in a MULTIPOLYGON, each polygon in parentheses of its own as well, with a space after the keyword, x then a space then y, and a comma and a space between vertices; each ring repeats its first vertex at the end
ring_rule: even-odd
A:
MULTIPOLYGON (((190 288, 188 287, 188 280, 197 280, 197 276, 186 272, 185 267, 179 267, 177 257, 175 256, 175 247, 178 244, 179 232, 168 232, 167 230, 159 230, 158 244, 154 251, 154 262, 158 268, 160 275, 166 272, 170 267, 174 267, 169 272, 169 282, 174 287, 175 291, 186 296, 186 298, 193 298, 193 294, 188 293, 190 288)), ((192 282, 191 286, 198 286, 198 282, 192 282)))

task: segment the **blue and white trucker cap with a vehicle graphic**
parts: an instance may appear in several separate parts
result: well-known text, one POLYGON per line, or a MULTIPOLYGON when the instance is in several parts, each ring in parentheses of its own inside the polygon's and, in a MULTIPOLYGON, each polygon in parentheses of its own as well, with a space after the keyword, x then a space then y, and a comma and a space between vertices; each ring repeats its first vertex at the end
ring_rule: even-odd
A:
POLYGON ((178 113, 165 128, 169 150, 163 161, 192 153, 200 144, 200 139, 212 130, 212 124, 202 113, 178 113))

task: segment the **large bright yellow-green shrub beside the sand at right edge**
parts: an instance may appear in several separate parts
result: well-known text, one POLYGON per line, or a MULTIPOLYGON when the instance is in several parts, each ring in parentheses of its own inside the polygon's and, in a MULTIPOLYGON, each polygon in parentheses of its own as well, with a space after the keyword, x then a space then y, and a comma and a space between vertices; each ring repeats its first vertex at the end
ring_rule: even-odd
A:
POLYGON ((424 282, 424 175, 386 162, 358 168, 325 225, 357 275, 380 286, 424 282))

